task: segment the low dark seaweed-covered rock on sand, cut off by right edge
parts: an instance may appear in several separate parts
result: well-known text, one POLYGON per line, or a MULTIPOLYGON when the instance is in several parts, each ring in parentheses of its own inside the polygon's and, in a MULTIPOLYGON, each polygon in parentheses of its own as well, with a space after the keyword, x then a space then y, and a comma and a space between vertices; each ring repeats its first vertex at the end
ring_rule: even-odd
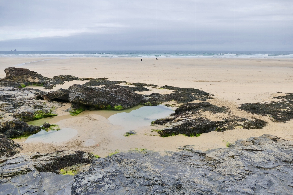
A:
POLYGON ((269 116, 274 122, 287 122, 293 119, 293 94, 287 93, 285 96, 274 97, 281 101, 269 103, 241 104, 239 109, 258 115, 269 116))

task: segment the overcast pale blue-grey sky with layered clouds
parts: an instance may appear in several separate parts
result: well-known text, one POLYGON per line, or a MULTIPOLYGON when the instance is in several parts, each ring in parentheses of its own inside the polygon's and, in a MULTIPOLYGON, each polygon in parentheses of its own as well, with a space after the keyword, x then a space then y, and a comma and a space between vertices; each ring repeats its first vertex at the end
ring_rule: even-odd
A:
POLYGON ((293 51, 292 0, 0 0, 0 51, 293 51))

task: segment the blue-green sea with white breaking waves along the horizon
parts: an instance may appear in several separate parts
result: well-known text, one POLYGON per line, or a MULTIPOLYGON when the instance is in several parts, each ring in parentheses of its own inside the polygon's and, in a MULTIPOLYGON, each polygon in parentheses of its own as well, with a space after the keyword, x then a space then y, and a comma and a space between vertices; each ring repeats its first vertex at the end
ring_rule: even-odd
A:
POLYGON ((293 58, 293 51, 0 51, 0 57, 293 58))

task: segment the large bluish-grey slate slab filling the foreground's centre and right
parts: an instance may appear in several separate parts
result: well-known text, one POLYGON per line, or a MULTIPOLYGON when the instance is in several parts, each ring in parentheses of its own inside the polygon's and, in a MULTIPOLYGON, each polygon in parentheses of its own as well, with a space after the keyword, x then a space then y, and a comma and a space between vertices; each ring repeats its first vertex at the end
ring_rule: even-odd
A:
POLYGON ((293 144, 271 135, 228 148, 140 150, 93 162, 74 177, 73 194, 284 194, 293 193, 293 144))

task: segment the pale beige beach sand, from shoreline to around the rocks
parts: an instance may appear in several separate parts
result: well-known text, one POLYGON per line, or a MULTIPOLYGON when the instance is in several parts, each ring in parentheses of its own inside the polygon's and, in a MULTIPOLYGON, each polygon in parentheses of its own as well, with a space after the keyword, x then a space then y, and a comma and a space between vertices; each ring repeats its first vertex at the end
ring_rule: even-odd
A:
MULTIPOLYGON (((51 78, 56 75, 74 75, 81 78, 107 77, 110 80, 125 80, 128 83, 143 82, 159 86, 197 88, 215 94, 214 99, 208 100, 212 104, 228 106, 238 115, 254 116, 268 121, 269 125, 263 129, 233 129, 225 132, 204 133, 199 137, 179 135, 165 138, 158 137, 155 132, 151 131, 155 127, 145 126, 136 130, 137 135, 124 137, 123 132, 118 131, 121 128, 112 125, 107 120, 107 115, 86 111, 78 116, 70 116, 68 112, 59 110, 58 112, 63 118, 55 119, 54 123, 62 127, 77 129, 78 135, 63 143, 22 143, 23 152, 81 149, 105 156, 115 150, 127 151, 134 148, 176 151, 178 146, 189 144, 195 145, 198 149, 207 150, 226 147, 226 141, 231 143, 238 139, 262 134, 272 134, 293 140, 293 120, 286 123, 275 123, 268 117, 251 115, 237 109, 241 103, 272 101, 272 97, 292 93, 293 59, 166 58, 143 59, 143 62, 140 62, 138 58, 69 58, 40 61, 44 59, 47 58, 0 58, 0 77, 5 76, 5 68, 14 66, 28 68, 51 78), (282 94, 277 94, 276 91, 281 91, 282 94)), ((70 82, 67 83, 67 87, 70 84, 70 82)), ((67 88, 65 84, 58 87, 67 88)), ((157 93, 160 90, 153 89, 153 91, 139 93, 150 92, 157 93)), ((161 93, 169 93, 169 91, 162 90, 161 93)), ((69 106, 70 104, 66 104, 62 109, 69 106)), ((211 113, 204 114, 207 118, 217 117, 211 113)))

